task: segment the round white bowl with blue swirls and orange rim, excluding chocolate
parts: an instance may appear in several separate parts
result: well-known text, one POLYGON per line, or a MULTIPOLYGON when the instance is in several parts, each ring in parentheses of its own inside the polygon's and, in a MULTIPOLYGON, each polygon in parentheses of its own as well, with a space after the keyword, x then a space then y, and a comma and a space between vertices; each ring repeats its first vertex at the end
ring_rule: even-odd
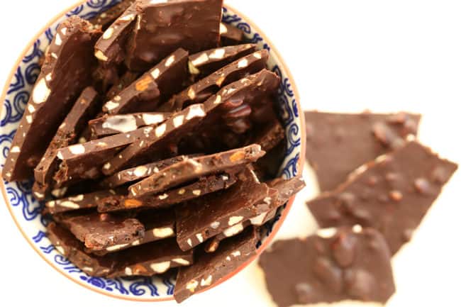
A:
MULTIPOLYGON (((14 65, 7 84, 1 95, 2 112, 0 121, 0 164, 3 167, 6 156, 9 153, 9 147, 13 140, 14 133, 18 123, 27 105, 30 91, 35 83, 35 79, 40 73, 38 60, 45 48, 50 44, 55 35, 56 28, 65 18, 78 15, 82 18, 91 18, 97 13, 109 9, 120 0, 89 0, 82 1, 66 10, 48 23, 40 33, 30 41, 24 52, 18 58, 14 65)), ((299 94, 296 90, 294 80, 291 77, 289 69, 284 64, 282 57, 279 55, 274 45, 270 43, 266 35, 255 26, 249 18, 243 16, 230 6, 223 8, 223 22, 237 26, 245 32, 246 38, 251 43, 256 43, 258 48, 265 48, 270 52, 269 68, 276 72, 282 79, 282 84, 278 91, 278 101, 280 115, 283 119, 284 128, 287 136, 287 150, 284 162, 280 169, 280 174, 286 178, 301 174, 304 166, 305 154, 305 130, 304 116, 301 113, 299 103, 299 94)), ((11 217, 29 242, 30 246, 38 252, 45 262, 60 272, 62 275, 75 281, 87 289, 132 301, 167 301, 172 299, 174 290, 174 277, 152 277, 137 279, 104 279, 89 277, 80 269, 75 267, 72 262, 62 256, 45 234, 45 219, 40 215, 42 206, 33 198, 31 193, 33 181, 28 182, 1 182, 1 193, 4 202, 11 213, 11 217)), ((291 199, 284 207, 280 208, 277 216, 273 221, 267 223, 265 235, 258 242, 257 255, 265 250, 274 235, 282 225, 291 204, 291 199)), ((256 256, 257 257, 257 256, 256 256)), ((245 268, 253 259, 240 266, 234 272, 228 274, 221 282, 233 277, 233 275, 245 268)), ((221 283, 220 282, 220 283, 221 283)), ((216 284, 214 285, 216 286, 216 284)))

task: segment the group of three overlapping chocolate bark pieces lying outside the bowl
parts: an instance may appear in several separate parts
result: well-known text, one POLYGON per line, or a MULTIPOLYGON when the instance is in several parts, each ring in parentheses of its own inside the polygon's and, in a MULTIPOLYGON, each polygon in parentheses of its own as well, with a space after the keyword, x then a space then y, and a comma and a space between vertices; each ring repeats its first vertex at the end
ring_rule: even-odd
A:
POLYGON ((344 300, 386 303, 391 257, 457 169, 416 140, 411 113, 320 113, 306 117, 306 157, 321 194, 307 206, 321 227, 275 242, 260 258, 279 307, 344 300))

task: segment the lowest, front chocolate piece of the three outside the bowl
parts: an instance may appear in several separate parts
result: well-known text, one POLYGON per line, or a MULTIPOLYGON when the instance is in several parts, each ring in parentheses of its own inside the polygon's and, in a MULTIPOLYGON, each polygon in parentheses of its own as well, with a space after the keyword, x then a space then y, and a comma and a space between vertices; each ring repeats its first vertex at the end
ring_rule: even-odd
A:
POLYGON ((348 299, 387 302, 395 285, 386 241, 372 228, 352 229, 278 241, 261 255, 267 289, 277 306, 348 299))

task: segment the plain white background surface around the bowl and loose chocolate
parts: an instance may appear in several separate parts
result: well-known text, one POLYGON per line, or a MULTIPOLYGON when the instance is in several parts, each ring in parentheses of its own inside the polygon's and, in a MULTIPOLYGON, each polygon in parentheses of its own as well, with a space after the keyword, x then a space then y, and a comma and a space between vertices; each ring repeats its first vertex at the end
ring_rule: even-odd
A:
MULTIPOLYGON (((73 0, 2 1, 0 84, 35 33, 73 0)), ((304 108, 423 113, 421 140, 461 162, 461 1, 228 0, 265 31, 291 68, 304 108)), ((446 186, 415 238, 394 257, 398 287, 389 306, 461 306, 461 172, 446 186)), ((279 237, 315 226, 299 195, 279 237)), ((0 306, 175 306, 96 294, 55 272, 0 206, 0 306)), ((184 306, 270 306, 252 265, 184 306)), ((355 304, 347 306, 356 306, 355 304)))

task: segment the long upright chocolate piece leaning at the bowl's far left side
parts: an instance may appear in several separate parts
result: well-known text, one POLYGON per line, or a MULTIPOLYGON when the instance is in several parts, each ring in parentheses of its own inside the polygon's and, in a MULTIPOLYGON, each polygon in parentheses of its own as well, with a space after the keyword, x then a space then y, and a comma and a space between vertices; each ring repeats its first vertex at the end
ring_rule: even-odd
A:
POLYGON ((29 179, 57 128, 82 90, 91 83, 98 31, 77 16, 57 28, 3 169, 11 182, 29 179))

